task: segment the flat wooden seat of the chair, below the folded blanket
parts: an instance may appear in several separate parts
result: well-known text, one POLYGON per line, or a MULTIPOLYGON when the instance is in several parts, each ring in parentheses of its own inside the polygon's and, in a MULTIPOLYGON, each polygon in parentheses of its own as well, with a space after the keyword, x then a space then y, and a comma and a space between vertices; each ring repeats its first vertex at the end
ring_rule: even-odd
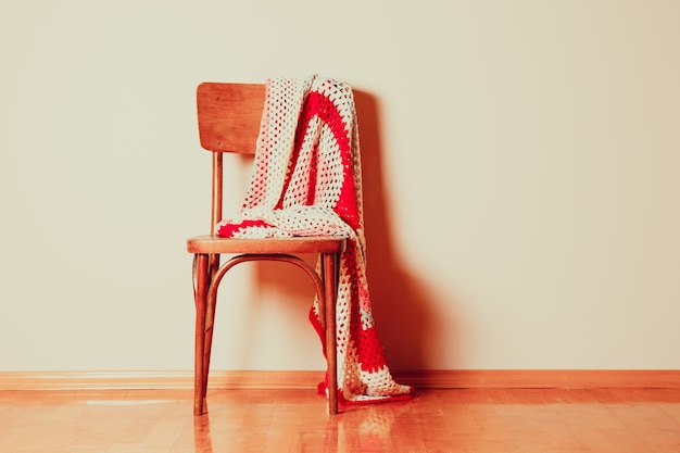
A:
POLYGON ((311 236, 280 239, 234 239, 203 235, 187 239, 189 253, 342 253, 347 239, 336 236, 311 236))

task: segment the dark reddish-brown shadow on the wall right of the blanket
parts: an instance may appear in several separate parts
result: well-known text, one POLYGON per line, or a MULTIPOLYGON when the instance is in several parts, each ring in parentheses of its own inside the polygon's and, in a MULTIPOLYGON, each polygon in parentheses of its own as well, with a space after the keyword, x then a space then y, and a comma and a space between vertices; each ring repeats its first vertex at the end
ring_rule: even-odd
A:
MULTIPOLYGON (((354 90, 362 151, 367 279, 376 328, 392 370, 429 369, 431 348, 440 341, 440 323, 428 288, 402 266, 392 239, 382 178, 383 149, 376 98, 354 90)), ((436 353, 439 355, 441 353, 436 353)))

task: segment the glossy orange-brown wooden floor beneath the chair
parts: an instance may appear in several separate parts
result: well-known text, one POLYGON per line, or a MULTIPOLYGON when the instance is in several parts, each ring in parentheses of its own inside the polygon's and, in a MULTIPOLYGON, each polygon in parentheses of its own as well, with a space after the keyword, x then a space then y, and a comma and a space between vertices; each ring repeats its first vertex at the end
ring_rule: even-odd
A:
POLYGON ((0 452, 680 452, 680 391, 424 390, 326 414, 311 390, 0 392, 0 452))

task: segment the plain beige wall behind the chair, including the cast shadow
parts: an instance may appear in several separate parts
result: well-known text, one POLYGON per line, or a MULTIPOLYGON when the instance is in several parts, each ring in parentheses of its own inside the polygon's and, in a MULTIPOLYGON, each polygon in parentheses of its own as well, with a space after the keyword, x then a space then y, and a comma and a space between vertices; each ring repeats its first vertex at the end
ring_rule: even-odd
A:
MULTIPOLYGON (((194 87, 314 72, 392 368, 680 368, 680 2, 177 3, 0 3, 0 372, 190 369, 194 87)), ((301 274, 225 284, 215 368, 323 368, 301 274)))

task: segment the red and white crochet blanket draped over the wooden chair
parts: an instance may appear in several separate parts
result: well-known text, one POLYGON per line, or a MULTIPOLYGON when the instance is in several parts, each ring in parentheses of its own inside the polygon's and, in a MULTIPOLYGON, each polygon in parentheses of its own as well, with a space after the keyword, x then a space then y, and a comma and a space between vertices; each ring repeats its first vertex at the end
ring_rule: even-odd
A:
MULTIPOLYGON (((366 281, 362 173, 354 95, 312 76, 267 80, 255 168, 240 213, 221 222, 228 238, 341 236, 337 302, 340 401, 407 397, 392 379, 376 334, 366 281)), ((314 301, 310 319, 324 335, 314 301)), ((319 390, 327 392, 326 382, 319 390)))

